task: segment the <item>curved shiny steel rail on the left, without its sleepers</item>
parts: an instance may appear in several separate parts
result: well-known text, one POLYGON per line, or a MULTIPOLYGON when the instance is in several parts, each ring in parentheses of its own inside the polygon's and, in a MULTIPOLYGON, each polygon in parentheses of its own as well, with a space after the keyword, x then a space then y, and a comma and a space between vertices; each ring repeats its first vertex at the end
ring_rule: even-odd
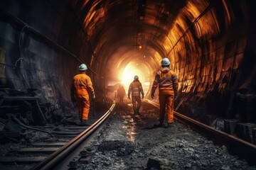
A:
POLYGON ((112 100, 112 106, 110 109, 95 123, 90 125, 86 130, 80 133, 77 137, 75 137, 73 140, 68 142, 68 144, 64 145, 58 151, 54 152, 50 155, 50 157, 43 160, 43 162, 40 162, 36 166, 34 166, 31 170, 38 170, 38 169, 54 169, 55 166, 60 164, 60 162, 63 161, 66 157, 70 155, 71 152, 73 152, 82 142, 87 140, 90 135, 92 135, 92 132, 95 132, 97 128, 100 127, 100 125, 108 118, 110 113, 113 111, 115 106, 115 101, 112 100))

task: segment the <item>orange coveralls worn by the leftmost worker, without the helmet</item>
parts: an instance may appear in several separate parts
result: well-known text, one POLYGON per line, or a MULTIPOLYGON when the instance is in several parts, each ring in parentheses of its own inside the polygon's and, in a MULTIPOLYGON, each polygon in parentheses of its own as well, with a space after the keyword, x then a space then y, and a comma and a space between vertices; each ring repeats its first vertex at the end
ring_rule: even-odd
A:
POLYGON ((73 86, 75 88, 75 101, 78 105, 79 118, 80 120, 88 120, 90 110, 89 94, 95 94, 92 81, 85 72, 82 72, 73 78, 73 86))

